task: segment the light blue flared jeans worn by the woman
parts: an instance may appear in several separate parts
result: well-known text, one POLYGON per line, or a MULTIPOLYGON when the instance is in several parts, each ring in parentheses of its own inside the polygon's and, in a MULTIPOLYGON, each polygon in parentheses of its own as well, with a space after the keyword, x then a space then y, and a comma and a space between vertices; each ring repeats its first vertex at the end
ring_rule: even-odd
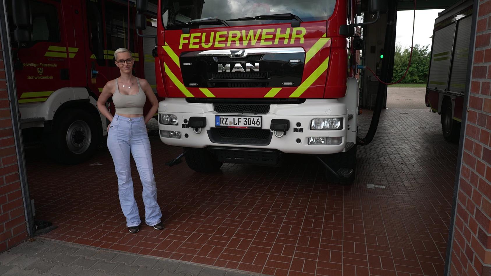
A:
POLYGON ((130 152, 136 163, 143 186, 145 223, 153 226, 161 221, 157 203, 157 187, 153 173, 152 153, 144 117, 128 118, 114 115, 109 126, 108 148, 118 177, 119 202, 126 217, 126 226, 140 225, 140 215, 133 194, 130 152))

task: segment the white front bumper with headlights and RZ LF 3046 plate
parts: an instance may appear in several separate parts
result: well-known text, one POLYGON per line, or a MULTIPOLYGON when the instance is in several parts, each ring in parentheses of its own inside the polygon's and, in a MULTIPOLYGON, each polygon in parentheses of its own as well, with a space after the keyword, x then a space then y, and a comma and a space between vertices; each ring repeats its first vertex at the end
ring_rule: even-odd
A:
POLYGON ((241 105, 167 98, 159 104, 160 138, 173 146, 254 148, 298 154, 338 153, 355 142, 356 115, 348 114, 346 105, 337 99, 251 105, 247 107, 250 112, 237 112, 244 110, 241 105))

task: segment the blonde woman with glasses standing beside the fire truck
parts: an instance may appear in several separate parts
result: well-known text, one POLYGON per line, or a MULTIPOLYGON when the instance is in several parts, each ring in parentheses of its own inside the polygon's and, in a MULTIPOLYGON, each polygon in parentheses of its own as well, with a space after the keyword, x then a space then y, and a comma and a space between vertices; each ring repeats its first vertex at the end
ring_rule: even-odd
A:
POLYGON ((134 59, 128 49, 119 48, 114 52, 114 58, 121 76, 106 83, 97 100, 97 108, 111 121, 108 126, 108 148, 118 177, 119 202, 126 217, 128 230, 130 233, 138 232, 141 220, 133 195, 131 152, 143 185, 145 223, 161 230, 164 229, 164 225, 157 203, 150 140, 146 129, 146 123, 157 112, 159 102, 150 84, 144 79, 133 76, 134 59), (116 108, 114 117, 106 108, 110 96, 116 108), (149 99, 152 108, 146 116, 143 116, 146 98, 149 99))

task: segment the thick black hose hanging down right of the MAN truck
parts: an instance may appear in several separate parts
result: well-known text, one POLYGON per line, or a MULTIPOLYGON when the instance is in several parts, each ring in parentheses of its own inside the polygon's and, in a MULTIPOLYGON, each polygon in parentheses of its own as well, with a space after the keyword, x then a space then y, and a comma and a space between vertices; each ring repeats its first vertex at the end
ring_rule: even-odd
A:
MULTIPOLYGON (((394 28, 396 25, 397 19, 397 2, 398 1, 387 1, 387 28, 385 29, 385 42, 384 42, 384 52, 390 53, 387 55, 387 58, 382 59, 382 70, 380 79, 386 83, 388 83, 389 77, 391 77, 390 72, 392 72, 393 68, 389 68, 390 64, 393 64, 394 60, 394 52, 395 52, 395 43, 394 43, 394 28)), ((370 123, 370 128, 368 129, 367 135, 365 138, 357 138, 356 144, 360 146, 368 145, 372 139, 375 137, 375 133, 377 132, 377 127, 379 126, 380 121, 380 113, 382 112, 383 106, 383 98, 385 95, 385 89, 387 88, 386 84, 379 82, 379 88, 377 91, 377 100, 375 102, 375 109, 373 111, 372 121, 370 123)))

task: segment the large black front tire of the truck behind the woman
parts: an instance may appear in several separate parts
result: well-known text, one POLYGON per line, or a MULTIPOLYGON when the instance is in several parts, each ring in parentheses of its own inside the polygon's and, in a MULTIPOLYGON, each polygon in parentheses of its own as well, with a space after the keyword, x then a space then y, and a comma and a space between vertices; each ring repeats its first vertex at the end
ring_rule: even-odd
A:
POLYGON ((45 138, 49 156, 58 163, 77 165, 93 156, 99 145, 99 124, 82 109, 64 110, 56 116, 45 138))

